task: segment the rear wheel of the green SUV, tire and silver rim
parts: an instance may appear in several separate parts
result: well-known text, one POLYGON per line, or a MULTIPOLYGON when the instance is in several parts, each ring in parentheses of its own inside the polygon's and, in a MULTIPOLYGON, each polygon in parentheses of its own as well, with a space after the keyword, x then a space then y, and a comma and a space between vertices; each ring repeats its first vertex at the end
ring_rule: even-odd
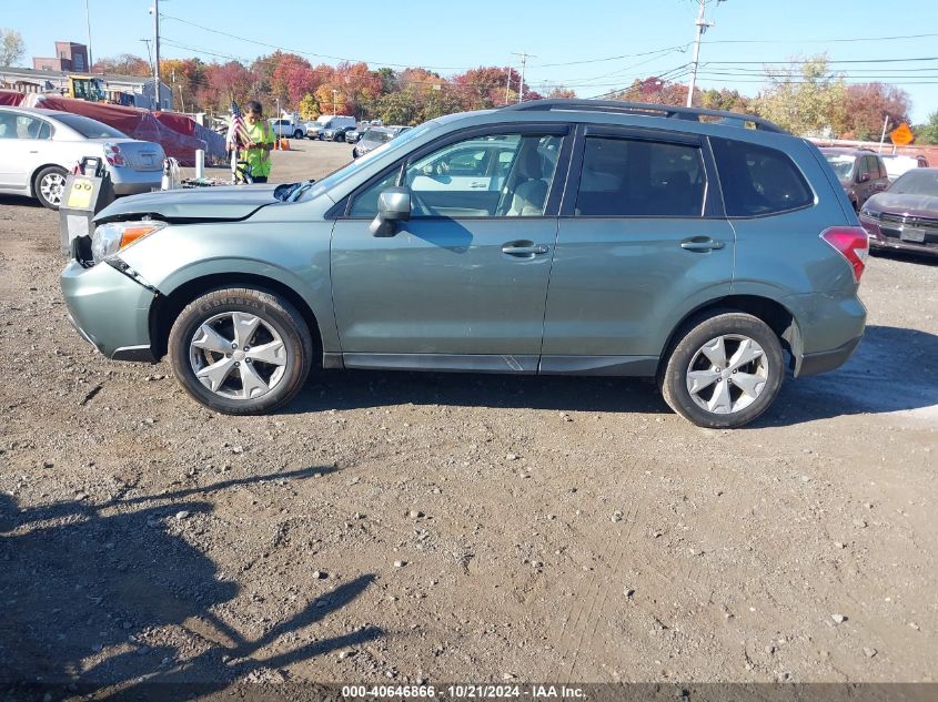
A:
POLYGON ((768 409, 784 377, 775 332, 753 315, 727 311, 682 328, 660 387, 672 409, 698 427, 734 429, 768 409))

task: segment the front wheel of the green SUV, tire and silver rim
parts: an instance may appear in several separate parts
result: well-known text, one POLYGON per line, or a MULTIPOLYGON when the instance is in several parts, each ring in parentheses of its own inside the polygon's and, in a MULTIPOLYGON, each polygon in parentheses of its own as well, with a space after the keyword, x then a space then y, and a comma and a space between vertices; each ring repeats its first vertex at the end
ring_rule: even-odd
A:
POLYGON ((192 301, 170 332, 173 373, 195 401, 226 415, 265 414, 303 387, 313 340, 289 302, 254 288, 192 301))

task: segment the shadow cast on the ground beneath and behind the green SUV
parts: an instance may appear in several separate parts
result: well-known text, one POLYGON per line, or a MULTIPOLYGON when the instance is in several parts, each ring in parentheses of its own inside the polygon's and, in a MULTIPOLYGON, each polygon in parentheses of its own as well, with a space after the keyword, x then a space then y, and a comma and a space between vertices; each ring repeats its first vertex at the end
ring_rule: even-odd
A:
MULTIPOLYGON (((442 405, 588 413, 670 414, 648 379, 345 370, 323 372, 282 411, 442 405)), ((938 405, 938 336, 868 326, 837 370, 788 380, 752 426, 786 426, 851 414, 938 405)))

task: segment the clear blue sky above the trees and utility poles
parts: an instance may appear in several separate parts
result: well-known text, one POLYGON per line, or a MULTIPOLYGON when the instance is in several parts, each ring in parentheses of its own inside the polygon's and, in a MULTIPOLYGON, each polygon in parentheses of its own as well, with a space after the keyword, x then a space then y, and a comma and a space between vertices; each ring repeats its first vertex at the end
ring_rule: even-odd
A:
MULTIPOLYGON (((88 4, 93 57, 130 52, 147 58, 140 40, 153 35, 148 13, 152 0, 88 4)), ((526 51, 535 54, 525 74, 533 89, 563 84, 591 98, 667 71, 686 81, 682 67, 693 58, 697 14, 696 0, 353 0, 317 11, 322 4, 161 0, 162 55, 250 61, 280 47, 305 52, 313 63, 345 58, 366 60, 372 68, 433 67, 448 75, 477 65, 520 67, 513 52, 526 51)), ((51 55, 56 40, 85 41, 85 0, 47 0, 41 11, 38 7, 0 0, 0 27, 22 33, 28 58, 51 55)), ((914 122, 938 111, 938 60, 849 62, 938 58, 938 0, 890 6, 874 0, 710 0, 707 14, 716 24, 700 51, 703 88, 725 85, 755 95, 762 88, 762 63, 826 51, 829 59, 844 61, 836 68, 848 82, 879 80, 906 90, 914 122), (888 39, 894 37, 902 38, 888 39)))

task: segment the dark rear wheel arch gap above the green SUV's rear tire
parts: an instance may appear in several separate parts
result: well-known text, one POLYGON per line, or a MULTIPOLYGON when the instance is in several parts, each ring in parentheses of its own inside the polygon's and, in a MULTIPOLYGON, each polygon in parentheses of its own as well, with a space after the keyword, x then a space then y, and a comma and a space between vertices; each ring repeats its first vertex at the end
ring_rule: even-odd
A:
POLYGON ((789 366, 793 368, 795 360, 804 353, 798 321, 785 305, 759 295, 727 295, 698 305, 675 325, 658 359, 658 377, 667 366, 672 350, 680 340, 687 327, 694 326, 718 312, 743 312, 765 322, 781 342, 781 347, 788 352, 789 366))

